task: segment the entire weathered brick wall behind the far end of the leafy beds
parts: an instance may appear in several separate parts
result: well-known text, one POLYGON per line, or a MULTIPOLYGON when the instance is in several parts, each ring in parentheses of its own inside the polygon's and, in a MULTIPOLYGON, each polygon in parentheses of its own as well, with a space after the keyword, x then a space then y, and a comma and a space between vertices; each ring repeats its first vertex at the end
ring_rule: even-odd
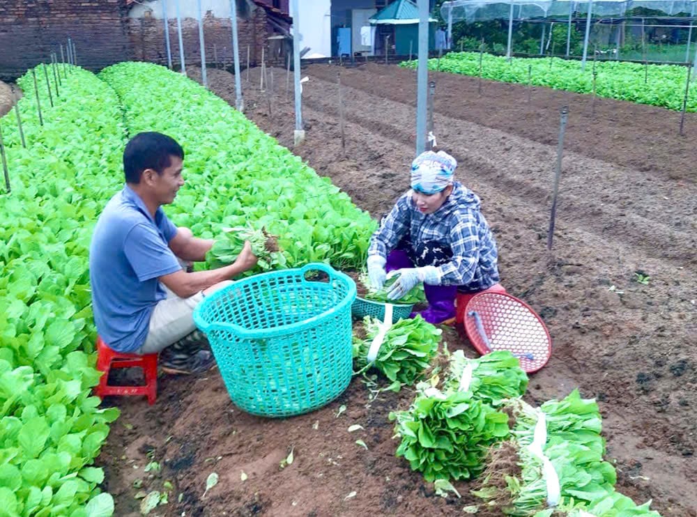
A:
MULTIPOLYGON (((232 63, 232 33, 229 19, 204 18, 206 61, 213 65, 214 45, 218 60, 232 63)), ((186 63, 200 64, 198 21, 182 20, 186 63)), ((266 11, 256 8, 249 20, 238 19, 240 59, 252 65, 261 62, 267 48, 266 11)), ((153 17, 130 18, 125 0, 0 0, 0 79, 14 80, 38 63, 49 62, 51 52, 72 38, 77 63, 101 70, 119 61, 152 61, 167 64, 164 22, 153 17)), ((172 60, 178 68, 179 45, 176 19, 169 20, 172 60)), ((60 57, 59 57, 60 59, 60 57)), ((283 56, 275 62, 282 63, 283 56)))

